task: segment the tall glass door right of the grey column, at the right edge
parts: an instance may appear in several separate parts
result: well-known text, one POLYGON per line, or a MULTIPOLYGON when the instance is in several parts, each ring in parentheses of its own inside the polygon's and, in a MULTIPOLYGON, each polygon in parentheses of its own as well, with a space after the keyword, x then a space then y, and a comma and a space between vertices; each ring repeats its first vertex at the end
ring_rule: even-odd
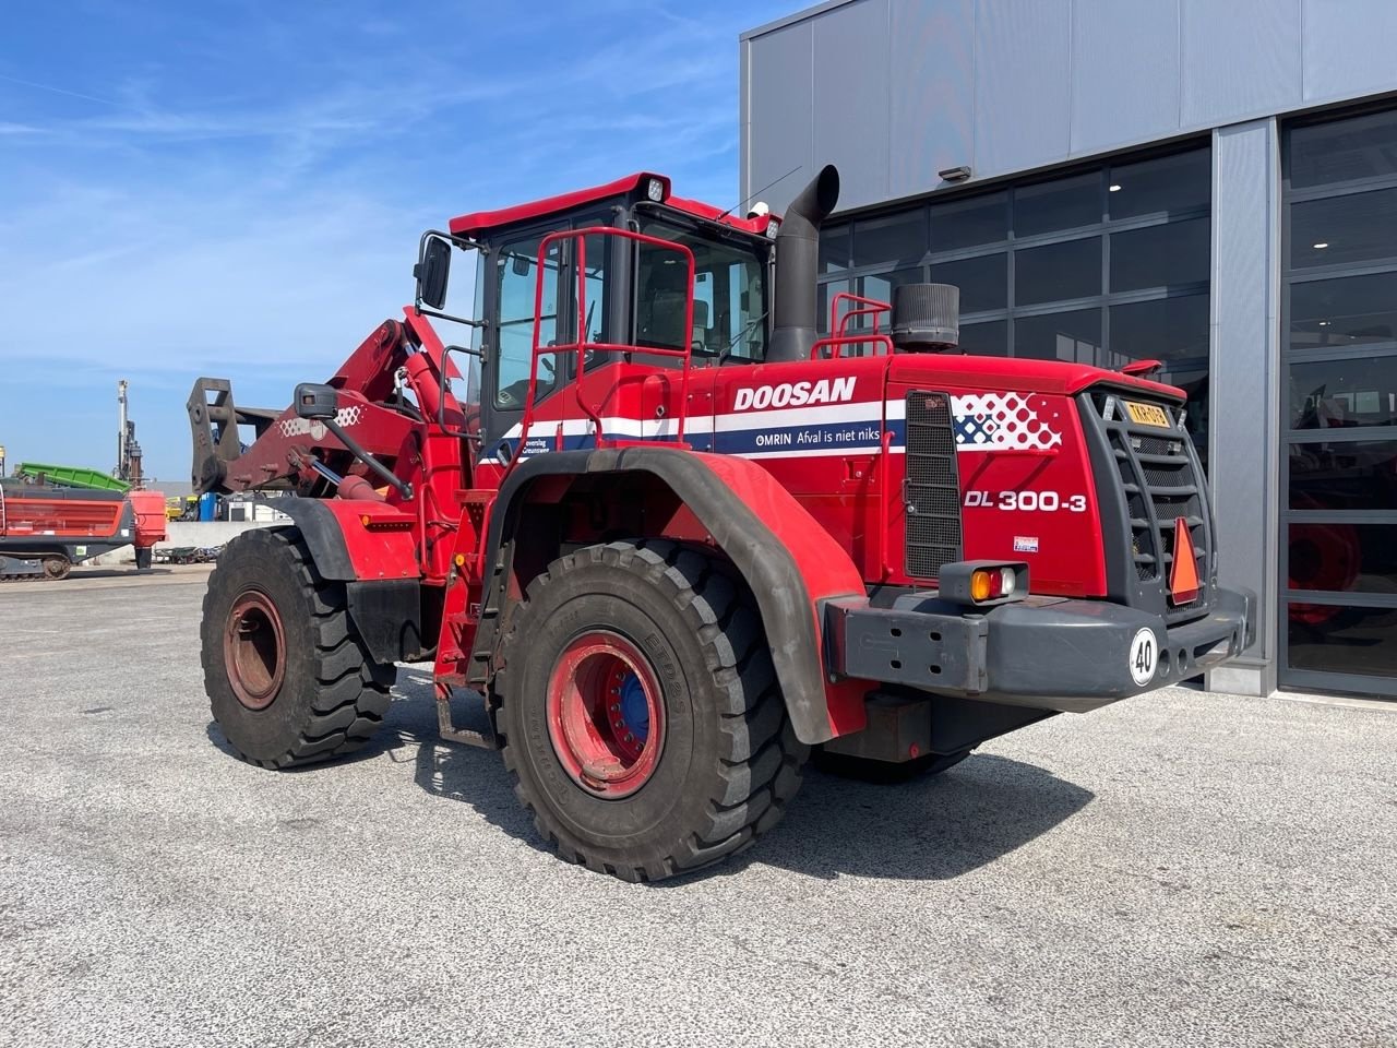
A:
POLYGON ((1280 679, 1397 678, 1397 112, 1284 134, 1280 679))

